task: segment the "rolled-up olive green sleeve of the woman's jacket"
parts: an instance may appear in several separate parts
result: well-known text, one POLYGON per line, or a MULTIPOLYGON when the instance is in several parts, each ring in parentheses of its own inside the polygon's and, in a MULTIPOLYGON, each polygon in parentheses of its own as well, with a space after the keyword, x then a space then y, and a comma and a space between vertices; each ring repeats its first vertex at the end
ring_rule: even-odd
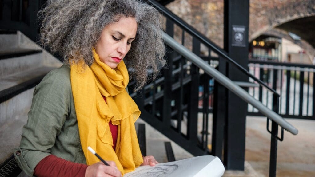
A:
POLYGON ((33 176, 37 163, 50 155, 50 148, 70 113, 72 90, 69 76, 58 69, 53 70, 34 89, 20 147, 14 153, 19 167, 28 176, 33 176))

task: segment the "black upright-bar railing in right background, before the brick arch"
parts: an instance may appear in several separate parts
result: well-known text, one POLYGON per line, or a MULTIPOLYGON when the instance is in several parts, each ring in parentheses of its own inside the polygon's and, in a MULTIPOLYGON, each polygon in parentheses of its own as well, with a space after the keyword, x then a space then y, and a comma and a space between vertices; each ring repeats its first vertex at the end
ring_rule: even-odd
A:
MULTIPOLYGON (((282 117, 315 120, 314 65, 249 60, 249 71, 281 95, 279 114, 282 117)), ((249 88, 249 93, 272 109, 270 91, 259 87, 249 88)), ((261 116, 251 105, 248 114, 261 116)))

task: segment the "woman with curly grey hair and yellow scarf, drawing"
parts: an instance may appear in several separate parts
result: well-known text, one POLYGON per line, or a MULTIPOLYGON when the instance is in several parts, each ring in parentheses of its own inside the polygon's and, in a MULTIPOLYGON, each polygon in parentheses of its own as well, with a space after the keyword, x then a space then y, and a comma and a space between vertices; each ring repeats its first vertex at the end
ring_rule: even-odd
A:
POLYGON ((155 77, 165 64, 157 10, 137 0, 49 0, 39 16, 43 46, 65 65, 34 90, 14 153, 20 168, 29 176, 122 176, 154 166, 154 157, 141 155, 140 111, 126 87, 133 77, 139 90, 147 70, 155 77))

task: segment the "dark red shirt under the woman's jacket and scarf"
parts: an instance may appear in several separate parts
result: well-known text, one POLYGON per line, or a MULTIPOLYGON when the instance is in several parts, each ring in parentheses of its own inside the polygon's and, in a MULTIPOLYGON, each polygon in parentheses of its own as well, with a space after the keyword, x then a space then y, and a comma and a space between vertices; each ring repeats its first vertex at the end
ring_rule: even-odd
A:
MULTIPOLYGON (((106 98, 103 96, 104 101, 106 102, 106 98)), ((112 122, 109 122, 109 128, 112 132, 113 137, 113 148, 116 149, 117 142, 117 134, 118 127, 117 125, 113 125, 112 122)), ((49 155, 43 158, 34 169, 34 176, 37 177, 84 177, 86 168, 88 165, 74 163, 71 161, 67 161, 65 159, 56 157, 54 155, 49 155)))

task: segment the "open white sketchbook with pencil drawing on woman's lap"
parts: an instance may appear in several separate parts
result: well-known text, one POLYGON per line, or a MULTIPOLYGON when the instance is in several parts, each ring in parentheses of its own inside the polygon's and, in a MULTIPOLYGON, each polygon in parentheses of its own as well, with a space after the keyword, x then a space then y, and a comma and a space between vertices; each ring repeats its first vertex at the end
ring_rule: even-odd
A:
POLYGON ((123 177, 221 177, 224 166, 218 157, 198 156, 175 162, 159 163, 154 167, 140 166, 123 177))

